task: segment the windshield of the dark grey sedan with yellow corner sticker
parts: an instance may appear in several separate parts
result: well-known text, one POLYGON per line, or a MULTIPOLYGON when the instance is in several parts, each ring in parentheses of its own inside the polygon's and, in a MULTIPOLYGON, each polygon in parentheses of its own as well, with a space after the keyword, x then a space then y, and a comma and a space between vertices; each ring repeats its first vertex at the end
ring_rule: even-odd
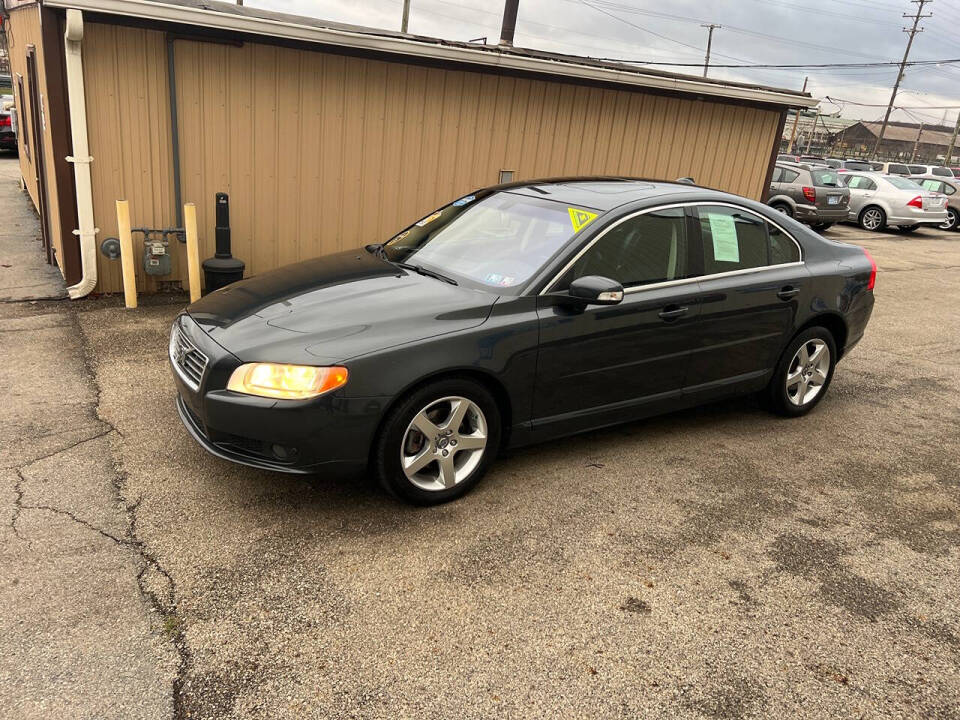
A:
POLYGON ((515 295, 597 212, 512 192, 468 195, 387 241, 388 260, 515 295))

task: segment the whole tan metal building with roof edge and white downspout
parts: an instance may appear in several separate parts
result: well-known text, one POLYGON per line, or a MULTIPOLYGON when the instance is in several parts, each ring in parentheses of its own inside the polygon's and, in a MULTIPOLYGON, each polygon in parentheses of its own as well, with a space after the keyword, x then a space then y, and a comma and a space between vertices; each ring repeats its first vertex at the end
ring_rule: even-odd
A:
MULTIPOLYGON (((98 249, 118 199, 151 228, 196 203, 208 257, 229 193, 253 274, 385 239, 503 173, 691 176, 760 198, 786 110, 816 103, 208 0, 4 2, 23 176, 75 297, 122 287, 98 249)), ((141 291, 186 286, 171 255, 167 276, 138 263, 141 291)))

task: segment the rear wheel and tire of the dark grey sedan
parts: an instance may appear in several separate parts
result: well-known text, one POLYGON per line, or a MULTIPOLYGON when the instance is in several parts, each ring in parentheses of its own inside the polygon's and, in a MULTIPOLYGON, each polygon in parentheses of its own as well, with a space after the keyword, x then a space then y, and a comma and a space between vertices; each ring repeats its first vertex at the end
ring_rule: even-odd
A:
POLYGON ((810 412, 826 395, 837 364, 837 345, 824 327, 798 334, 780 357, 766 396, 778 415, 798 417, 810 412))

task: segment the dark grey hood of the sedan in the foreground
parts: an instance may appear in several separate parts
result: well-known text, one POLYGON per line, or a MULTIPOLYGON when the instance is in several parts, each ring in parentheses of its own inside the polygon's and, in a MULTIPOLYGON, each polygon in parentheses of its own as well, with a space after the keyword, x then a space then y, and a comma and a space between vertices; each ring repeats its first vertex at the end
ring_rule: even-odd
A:
POLYGON ((317 364, 480 325, 497 298, 351 250, 233 283, 187 312, 243 362, 317 364))

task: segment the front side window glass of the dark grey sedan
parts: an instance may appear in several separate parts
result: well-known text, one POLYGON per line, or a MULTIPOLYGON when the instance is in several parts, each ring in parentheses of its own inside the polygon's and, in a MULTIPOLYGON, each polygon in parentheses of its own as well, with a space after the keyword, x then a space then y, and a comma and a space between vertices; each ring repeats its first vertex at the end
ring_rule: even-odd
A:
POLYGON ((624 287, 689 277, 683 208, 644 213, 611 228, 554 287, 566 289, 586 275, 608 277, 624 287))

